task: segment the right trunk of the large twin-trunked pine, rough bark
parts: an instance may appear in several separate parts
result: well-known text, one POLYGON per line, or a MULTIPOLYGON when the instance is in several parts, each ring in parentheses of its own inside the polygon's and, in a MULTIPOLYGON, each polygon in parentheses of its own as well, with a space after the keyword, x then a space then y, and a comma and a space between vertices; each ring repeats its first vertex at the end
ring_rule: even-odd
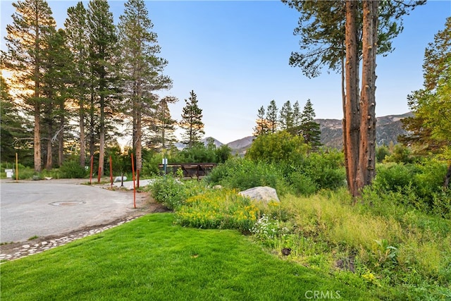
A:
POLYGON ((360 191, 376 175, 376 51, 378 1, 363 1, 362 94, 356 186, 360 191))

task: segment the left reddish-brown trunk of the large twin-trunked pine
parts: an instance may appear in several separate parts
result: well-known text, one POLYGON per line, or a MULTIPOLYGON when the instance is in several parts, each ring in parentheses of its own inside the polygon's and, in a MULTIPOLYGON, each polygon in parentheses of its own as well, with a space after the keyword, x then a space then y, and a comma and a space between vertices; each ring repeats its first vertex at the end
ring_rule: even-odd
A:
POLYGON ((343 137, 345 145, 345 162, 347 164, 348 187, 355 197, 359 188, 355 183, 359 164, 359 54, 357 30, 357 1, 346 1, 345 45, 346 45, 346 101, 345 128, 343 137))

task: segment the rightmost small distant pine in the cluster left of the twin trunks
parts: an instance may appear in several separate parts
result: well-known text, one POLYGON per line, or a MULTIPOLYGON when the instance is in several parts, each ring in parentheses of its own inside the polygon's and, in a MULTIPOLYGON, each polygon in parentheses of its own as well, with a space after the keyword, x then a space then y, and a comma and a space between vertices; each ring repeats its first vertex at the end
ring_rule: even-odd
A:
POLYGON ((321 130, 319 123, 314 121, 316 114, 310 99, 304 106, 301 113, 300 135, 304 137, 305 143, 309 144, 315 151, 321 145, 321 130))

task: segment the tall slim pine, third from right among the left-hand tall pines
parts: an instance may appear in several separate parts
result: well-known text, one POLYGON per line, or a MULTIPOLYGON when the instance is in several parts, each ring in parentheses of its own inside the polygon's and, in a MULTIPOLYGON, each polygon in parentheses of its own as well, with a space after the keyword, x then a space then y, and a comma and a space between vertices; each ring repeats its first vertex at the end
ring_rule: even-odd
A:
MULTIPOLYGON (((70 71, 70 94, 78 110, 80 166, 85 166, 85 106, 89 95, 89 49, 87 36, 87 10, 80 1, 68 8, 66 27, 66 44, 73 56, 73 68, 70 71)), ((92 155, 92 153, 91 153, 92 155)))

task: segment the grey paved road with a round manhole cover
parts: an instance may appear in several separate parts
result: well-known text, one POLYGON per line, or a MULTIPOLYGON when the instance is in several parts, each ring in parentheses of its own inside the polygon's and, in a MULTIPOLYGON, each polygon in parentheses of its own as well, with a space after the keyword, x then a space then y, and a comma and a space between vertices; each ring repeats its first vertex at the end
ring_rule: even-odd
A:
POLYGON ((58 235, 109 223, 133 209, 132 192, 111 191, 58 180, 0 185, 0 242, 58 235))

